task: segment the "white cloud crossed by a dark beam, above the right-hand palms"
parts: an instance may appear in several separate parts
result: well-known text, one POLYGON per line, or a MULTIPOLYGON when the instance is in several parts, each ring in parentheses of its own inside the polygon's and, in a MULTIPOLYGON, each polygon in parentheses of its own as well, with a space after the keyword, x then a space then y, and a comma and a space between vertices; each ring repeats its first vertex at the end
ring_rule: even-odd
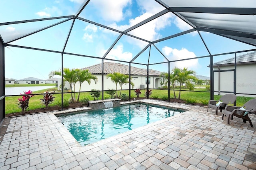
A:
MULTIPOLYGON (((185 48, 182 48, 181 50, 178 49, 172 49, 171 47, 163 47, 162 51, 164 55, 170 60, 180 60, 180 59, 190 59, 196 57, 195 53, 188 51, 185 48)), ((198 59, 191 59, 191 60, 184 60, 184 61, 178 61, 171 63, 172 67, 178 67, 178 68, 184 68, 188 67, 190 69, 198 68, 199 63, 198 59)))

